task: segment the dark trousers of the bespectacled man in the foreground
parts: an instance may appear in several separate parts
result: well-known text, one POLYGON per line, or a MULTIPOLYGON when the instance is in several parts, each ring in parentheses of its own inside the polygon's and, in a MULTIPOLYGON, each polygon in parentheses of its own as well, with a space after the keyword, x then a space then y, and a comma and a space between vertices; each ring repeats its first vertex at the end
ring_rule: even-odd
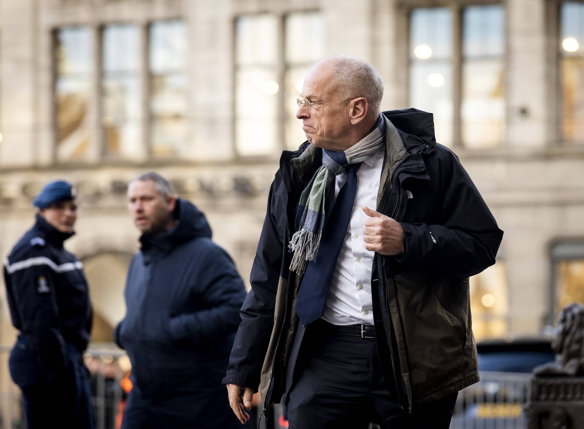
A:
POLYGON ((375 339, 363 339, 308 325, 288 389, 290 429, 448 429, 458 393, 416 404, 413 414, 399 407, 394 381, 385 384, 375 339))

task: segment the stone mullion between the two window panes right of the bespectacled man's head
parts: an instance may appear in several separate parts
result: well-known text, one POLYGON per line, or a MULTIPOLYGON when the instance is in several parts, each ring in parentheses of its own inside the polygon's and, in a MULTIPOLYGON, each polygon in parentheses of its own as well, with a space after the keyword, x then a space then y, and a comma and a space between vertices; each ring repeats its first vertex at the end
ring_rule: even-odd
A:
POLYGON ((453 15, 453 54, 452 54, 452 145, 462 146, 461 105, 463 97, 463 21, 462 8, 458 4, 451 6, 453 15))

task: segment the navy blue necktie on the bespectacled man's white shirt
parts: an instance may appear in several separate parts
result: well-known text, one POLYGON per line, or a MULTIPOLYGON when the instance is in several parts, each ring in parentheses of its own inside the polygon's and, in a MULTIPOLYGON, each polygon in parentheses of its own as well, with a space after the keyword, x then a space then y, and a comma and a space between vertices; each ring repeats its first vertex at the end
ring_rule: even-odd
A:
POLYGON ((335 206, 326 221, 317 257, 308 262, 296 300, 296 314, 304 326, 318 320, 324 313, 332 273, 349 226, 357 189, 357 170, 361 164, 363 163, 349 164, 345 168, 347 182, 340 188, 335 206))

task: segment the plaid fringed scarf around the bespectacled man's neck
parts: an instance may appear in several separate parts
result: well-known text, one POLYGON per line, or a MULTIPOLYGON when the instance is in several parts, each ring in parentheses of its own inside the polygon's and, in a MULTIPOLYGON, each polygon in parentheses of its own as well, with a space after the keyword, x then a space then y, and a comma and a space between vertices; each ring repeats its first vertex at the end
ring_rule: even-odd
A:
POLYGON ((377 153, 384 136, 385 121, 380 114, 371 132, 349 149, 344 152, 322 150, 322 166, 308 182, 298 202, 297 230, 288 244, 288 249, 294 252, 290 270, 303 275, 308 261, 317 257, 322 230, 333 207, 335 176, 343 173, 349 164, 360 163, 377 153))

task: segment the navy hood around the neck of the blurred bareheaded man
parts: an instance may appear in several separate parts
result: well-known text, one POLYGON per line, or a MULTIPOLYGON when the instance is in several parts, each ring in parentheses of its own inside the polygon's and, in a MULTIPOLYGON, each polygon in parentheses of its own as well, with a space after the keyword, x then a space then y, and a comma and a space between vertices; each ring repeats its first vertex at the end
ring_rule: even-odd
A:
POLYGON ((182 198, 176 199, 173 214, 177 223, 171 230, 153 235, 142 234, 140 237, 142 253, 148 253, 152 248, 168 252, 175 246, 194 238, 211 238, 212 232, 207 218, 193 203, 182 198))

